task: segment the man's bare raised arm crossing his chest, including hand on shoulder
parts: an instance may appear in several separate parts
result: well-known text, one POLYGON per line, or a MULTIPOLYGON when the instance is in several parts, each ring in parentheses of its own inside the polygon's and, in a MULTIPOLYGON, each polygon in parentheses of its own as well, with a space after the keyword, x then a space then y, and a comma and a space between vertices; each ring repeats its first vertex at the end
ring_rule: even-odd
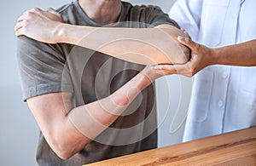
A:
POLYGON ((186 36, 171 25, 155 28, 73 26, 61 23, 54 10, 33 9, 23 14, 15 26, 17 36, 25 35, 44 43, 71 43, 144 64, 183 64, 189 49, 177 42, 186 36))

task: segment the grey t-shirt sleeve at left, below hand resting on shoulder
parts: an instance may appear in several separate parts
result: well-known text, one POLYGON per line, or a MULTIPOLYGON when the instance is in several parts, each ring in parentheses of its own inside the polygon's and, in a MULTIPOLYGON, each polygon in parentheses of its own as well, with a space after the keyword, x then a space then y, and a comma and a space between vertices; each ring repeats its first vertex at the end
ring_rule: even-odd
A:
POLYGON ((23 100, 41 94, 73 91, 67 75, 65 79, 62 77, 67 67, 57 44, 18 37, 17 61, 23 100))

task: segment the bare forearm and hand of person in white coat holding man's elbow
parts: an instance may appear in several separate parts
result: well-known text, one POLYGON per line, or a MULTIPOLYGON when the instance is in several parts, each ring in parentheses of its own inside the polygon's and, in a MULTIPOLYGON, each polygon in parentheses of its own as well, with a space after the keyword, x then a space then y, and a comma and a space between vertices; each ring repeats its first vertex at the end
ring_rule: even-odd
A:
POLYGON ((210 65, 256 66, 256 39, 217 49, 195 43, 189 37, 177 39, 191 49, 191 58, 183 65, 162 66, 169 73, 192 77, 210 65))

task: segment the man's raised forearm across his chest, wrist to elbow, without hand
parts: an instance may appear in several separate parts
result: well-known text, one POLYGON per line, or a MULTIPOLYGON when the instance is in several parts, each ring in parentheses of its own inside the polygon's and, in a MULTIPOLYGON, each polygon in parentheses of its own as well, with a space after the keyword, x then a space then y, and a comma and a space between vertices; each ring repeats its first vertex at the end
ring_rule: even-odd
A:
POLYGON ((184 34, 175 26, 116 28, 61 24, 59 31, 58 42, 144 65, 183 64, 189 57, 189 49, 177 43, 177 36, 184 34))

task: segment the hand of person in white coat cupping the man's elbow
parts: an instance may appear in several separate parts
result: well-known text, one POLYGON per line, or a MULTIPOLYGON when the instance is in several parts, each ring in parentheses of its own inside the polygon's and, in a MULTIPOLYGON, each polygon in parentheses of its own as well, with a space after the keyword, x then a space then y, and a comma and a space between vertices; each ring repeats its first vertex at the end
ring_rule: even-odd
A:
POLYGON ((190 60, 183 65, 159 66, 162 71, 165 71, 168 74, 180 74, 186 77, 192 77, 206 66, 215 64, 213 49, 195 43, 189 37, 177 37, 177 40, 179 43, 190 49, 190 60))

